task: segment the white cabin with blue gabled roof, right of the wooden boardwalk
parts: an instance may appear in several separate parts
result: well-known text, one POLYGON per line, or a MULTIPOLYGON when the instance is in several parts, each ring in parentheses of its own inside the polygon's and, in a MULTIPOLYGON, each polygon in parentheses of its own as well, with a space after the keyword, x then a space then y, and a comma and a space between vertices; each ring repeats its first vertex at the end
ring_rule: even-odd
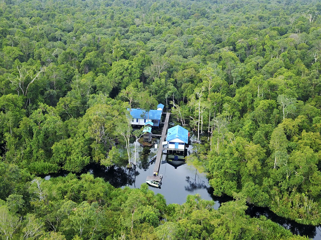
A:
POLYGON ((188 130, 179 125, 169 128, 166 141, 168 150, 184 151, 188 144, 188 130))

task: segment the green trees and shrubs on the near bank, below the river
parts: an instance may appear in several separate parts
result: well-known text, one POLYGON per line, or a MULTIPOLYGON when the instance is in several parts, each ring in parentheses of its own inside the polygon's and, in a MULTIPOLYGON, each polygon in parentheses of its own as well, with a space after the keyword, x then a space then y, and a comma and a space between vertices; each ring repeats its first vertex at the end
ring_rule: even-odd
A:
POLYGON ((30 174, 4 163, 0 172, 8 178, 1 181, 2 239, 304 239, 265 217, 250 218, 239 196, 214 210, 197 194, 166 205, 147 184, 114 188, 89 173, 28 181, 30 174))

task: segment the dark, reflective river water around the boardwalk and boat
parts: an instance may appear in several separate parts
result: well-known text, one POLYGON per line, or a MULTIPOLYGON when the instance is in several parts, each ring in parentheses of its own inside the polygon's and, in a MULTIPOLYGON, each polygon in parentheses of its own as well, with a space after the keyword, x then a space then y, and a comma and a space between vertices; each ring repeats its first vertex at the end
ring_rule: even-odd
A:
MULTIPOLYGON (((157 141, 157 140, 156 140, 157 141)), ((134 144, 132 144, 131 159, 134 161, 134 144)), ((131 187, 139 188, 141 184, 145 183, 147 176, 153 175, 154 162, 149 163, 149 160, 156 154, 155 148, 142 147, 136 145, 136 161, 135 168, 127 169, 126 167, 112 166, 106 168, 99 164, 88 165, 82 173, 90 172, 95 177, 104 178, 114 187, 131 187)), ((187 154, 193 151, 193 146, 190 145, 187 154)), ((214 208, 220 207, 221 203, 232 200, 231 197, 222 196, 217 197, 213 195, 213 189, 208 184, 208 179, 205 174, 200 173, 193 165, 188 165, 184 161, 171 161, 168 155, 163 154, 162 164, 160 165, 159 174, 163 175, 162 185, 160 188, 149 186, 155 194, 160 193, 164 195, 166 203, 185 203, 187 195, 200 194, 205 200, 214 200, 214 208)), ((62 176, 64 173, 48 175, 45 179, 50 177, 62 176)), ((268 208, 256 207, 249 205, 246 213, 251 217, 266 216, 273 222, 278 223, 284 228, 289 229, 293 234, 300 236, 308 236, 315 240, 321 240, 320 226, 309 226, 299 224, 295 221, 284 219, 277 216, 268 208)))

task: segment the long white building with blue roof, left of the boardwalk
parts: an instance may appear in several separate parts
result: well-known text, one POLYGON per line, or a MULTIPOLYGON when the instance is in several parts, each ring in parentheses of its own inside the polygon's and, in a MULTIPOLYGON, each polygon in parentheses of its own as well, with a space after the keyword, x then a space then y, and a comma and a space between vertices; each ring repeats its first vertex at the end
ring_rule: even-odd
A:
POLYGON ((131 123, 133 125, 145 126, 145 123, 152 122, 152 126, 160 125, 161 111, 160 110, 149 110, 147 112, 141 108, 127 108, 131 115, 131 123))

